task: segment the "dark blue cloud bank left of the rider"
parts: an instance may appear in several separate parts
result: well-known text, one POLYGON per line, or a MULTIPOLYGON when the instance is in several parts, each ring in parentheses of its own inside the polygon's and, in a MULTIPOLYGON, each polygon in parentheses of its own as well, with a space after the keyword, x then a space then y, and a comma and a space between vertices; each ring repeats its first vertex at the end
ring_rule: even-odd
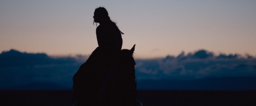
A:
POLYGON ((72 87, 72 77, 86 61, 84 56, 50 57, 11 49, 0 54, 0 89, 49 83, 72 87))

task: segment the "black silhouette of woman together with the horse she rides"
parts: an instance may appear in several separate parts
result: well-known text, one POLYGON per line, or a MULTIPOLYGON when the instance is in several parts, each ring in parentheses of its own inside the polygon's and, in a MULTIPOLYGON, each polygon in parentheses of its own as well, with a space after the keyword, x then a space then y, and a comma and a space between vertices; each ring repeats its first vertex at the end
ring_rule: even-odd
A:
POLYGON ((93 18, 100 24, 98 47, 73 76, 73 105, 132 105, 137 96, 135 45, 121 50, 123 33, 105 8, 95 9, 93 18))

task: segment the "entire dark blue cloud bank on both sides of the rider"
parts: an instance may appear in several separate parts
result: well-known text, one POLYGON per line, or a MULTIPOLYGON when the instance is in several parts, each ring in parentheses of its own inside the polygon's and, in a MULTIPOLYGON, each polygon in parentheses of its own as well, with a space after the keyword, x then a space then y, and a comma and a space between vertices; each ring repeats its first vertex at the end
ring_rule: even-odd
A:
MULTIPOLYGON (((20 89, 37 89, 38 87, 35 86, 38 86, 38 84, 47 86, 45 87, 47 89, 52 87, 54 87, 53 89, 72 89, 72 77, 87 58, 88 56, 81 55, 53 58, 43 53, 31 54, 13 49, 4 51, 0 54, 0 90, 16 89, 17 87, 20 87, 20 89)), ((207 50, 198 50, 188 54, 185 54, 183 51, 177 57, 166 56, 160 59, 138 59, 136 64, 136 77, 138 81, 168 80, 171 81, 168 82, 169 84, 174 85, 181 84, 177 82, 189 85, 187 82, 184 83, 184 81, 204 81, 204 78, 209 77, 256 76, 256 59, 254 57, 250 55, 242 57, 238 54, 220 54, 215 56, 214 53, 207 50)), ((220 80, 218 81, 220 82, 220 80)), ((202 84, 207 83, 209 85, 212 84, 211 80, 202 84)), ((217 82, 214 83, 216 84, 217 82)), ((247 84, 246 82, 241 84, 243 83, 247 84)), ((190 84, 190 86, 197 88, 197 82, 192 84, 195 85, 190 84)), ((146 87, 141 88, 144 89, 146 87)))

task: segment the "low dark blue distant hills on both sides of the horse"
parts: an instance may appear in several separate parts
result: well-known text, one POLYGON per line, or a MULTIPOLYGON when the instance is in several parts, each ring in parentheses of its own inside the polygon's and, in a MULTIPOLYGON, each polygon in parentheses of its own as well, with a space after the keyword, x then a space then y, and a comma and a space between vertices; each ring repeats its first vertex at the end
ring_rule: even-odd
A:
MULTIPOLYGON (((31 83, 8 90, 71 90, 55 83, 31 83)), ((256 77, 221 77, 199 80, 138 80, 138 90, 256 90, 256 77)), ((2 89, 3 90, 3 89, 2 89)))

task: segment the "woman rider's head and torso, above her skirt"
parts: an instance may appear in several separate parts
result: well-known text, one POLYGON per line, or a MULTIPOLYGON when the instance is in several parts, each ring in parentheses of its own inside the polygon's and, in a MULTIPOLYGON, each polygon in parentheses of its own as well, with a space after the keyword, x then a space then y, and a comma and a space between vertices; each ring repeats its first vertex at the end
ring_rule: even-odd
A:
POLYGON ((105 8, 99 7, 94 12, 94 22, 100 25, 96 29, 97 41, 99 47, 109 49, 110 51, 119 51, 122 47, 123 34, 113 22, 105 8))

